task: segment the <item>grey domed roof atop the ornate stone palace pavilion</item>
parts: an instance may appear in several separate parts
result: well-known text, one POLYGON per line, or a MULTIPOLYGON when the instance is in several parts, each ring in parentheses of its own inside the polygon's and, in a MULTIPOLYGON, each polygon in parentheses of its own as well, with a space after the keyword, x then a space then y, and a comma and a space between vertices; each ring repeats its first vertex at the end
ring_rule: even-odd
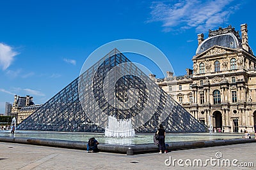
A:
MULTIPOLYGON (((196 49, 196 55, 205 52, 214 45, 227 48, 242 48, 239 31, 235 31, 231 25, 224 29, 220 27, 215 31, 209 30, 209 38, 202 41, 202 43, 198 46, 196 49)), ((250 46, 248 51, 249 53, 253 54, 250 46)))

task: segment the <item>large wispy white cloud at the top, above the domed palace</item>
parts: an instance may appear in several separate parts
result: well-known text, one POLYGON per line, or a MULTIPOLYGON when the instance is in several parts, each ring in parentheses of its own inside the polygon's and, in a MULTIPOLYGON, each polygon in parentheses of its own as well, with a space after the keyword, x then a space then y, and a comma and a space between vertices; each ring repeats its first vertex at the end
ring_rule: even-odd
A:
POLYGON ((223 19, 228 20, 230 14, 239 9, 240 4, 231 5, 233 1, 154 2, 150 7, 152 11, 148 22, 163 22, 163 31, 166 32, 184 31, 192 27, 195 27, 197 32, 204 32, 216 25, 223 25, 223 19))

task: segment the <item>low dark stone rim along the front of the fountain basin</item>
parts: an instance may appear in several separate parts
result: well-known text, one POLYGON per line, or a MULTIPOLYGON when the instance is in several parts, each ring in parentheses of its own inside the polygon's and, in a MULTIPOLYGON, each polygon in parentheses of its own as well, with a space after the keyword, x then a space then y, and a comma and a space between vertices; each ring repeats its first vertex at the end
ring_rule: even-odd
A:
MULTIPOLYGON (((22 143, 28 145, 42 145, 60 148, 71 148, 78 150, 86 150, 87 142, 83 141, 66 141, 58 139, 40 139, 40 138, 21 138, 0 136, 1 142, 22 143)), ((167 150, 184 150, 190 148, 203 148, 211 146, 234 145, 239 143, 252 143, 255 139, 214 139, 207 141, 182 141, 166 143, 167 150)), ((134 155, 140 153, 159 152, 157 145, 154 144, 138 144, 138 145, 108 145, 100 143, 98 145, 100 152, 124 153, 134 155)))

